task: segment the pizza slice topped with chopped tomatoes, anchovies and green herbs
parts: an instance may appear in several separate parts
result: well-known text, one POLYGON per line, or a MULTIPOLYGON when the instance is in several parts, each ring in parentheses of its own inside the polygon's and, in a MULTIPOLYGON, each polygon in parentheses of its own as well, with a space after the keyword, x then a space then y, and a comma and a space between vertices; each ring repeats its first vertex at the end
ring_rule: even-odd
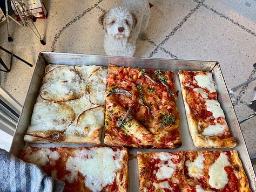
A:
POLYGON ((106 145, 133 148, 181 146, 172 71, 110 64, 106 81, 106 145))

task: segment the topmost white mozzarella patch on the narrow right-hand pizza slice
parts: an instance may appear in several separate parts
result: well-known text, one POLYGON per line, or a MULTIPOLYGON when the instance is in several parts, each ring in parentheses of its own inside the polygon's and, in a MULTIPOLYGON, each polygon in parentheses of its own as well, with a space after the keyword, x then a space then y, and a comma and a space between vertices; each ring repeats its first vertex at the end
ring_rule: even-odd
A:
POLYGON ((198 74, 194 78, 196 79, 198 86, 202 88, 207 88, 207 90, 209 90, 210 92, 216 92, 213 83, 212 73, 198 74))

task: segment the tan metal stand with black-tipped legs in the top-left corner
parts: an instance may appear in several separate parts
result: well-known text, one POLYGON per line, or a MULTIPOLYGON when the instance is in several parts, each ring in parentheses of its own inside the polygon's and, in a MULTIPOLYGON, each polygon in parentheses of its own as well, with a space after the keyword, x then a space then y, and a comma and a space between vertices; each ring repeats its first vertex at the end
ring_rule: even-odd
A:
POLYGON ((38 32, 36 25, 34 22, 36 22, 36 17, 32 15, 32 13, 26 9, 26 4, 22 0, 10 0, 11 4, 14 5, 19 19, 21 19, 21 23, 17 22, 14 18, 9 16, 8 14, 8 0, 5 0, 5 8, 6 8, 6 20, 7 20, 7 32, 8 32, 8 42, 12 42, 13 39, 10 36, 9 33, 9 18, 13 20, 15 23, 17 23, 19 26, 26 26, 30 27, 33 33, 40 39, 40 43, 45 45, 46 43, 42 39, 40 33, 38 32))

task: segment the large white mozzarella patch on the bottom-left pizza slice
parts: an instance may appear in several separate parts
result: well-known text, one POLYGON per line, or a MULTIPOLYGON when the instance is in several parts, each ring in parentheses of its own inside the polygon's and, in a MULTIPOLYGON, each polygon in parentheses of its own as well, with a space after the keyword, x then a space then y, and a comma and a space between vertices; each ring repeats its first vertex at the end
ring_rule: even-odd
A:
POLYGON ((78 172, 84 177, 84 184, 92 191, 101 191, 107 184, 114 182, 116 172, 122 168, 123 152, 111 148, 83 149, 75 157, 69 157, 66 169, 71 173, 66 179, 72 182, 78 172), (115 156, 115 158, 113 158, 115 156))

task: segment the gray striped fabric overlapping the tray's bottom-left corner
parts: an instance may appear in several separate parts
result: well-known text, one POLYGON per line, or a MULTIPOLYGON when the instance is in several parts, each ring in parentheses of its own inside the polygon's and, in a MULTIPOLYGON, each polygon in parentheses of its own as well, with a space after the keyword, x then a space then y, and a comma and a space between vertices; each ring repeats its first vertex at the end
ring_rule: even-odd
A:
POLYGON ((65 183, 0 149, 0 191, 63 191, 65 183))

